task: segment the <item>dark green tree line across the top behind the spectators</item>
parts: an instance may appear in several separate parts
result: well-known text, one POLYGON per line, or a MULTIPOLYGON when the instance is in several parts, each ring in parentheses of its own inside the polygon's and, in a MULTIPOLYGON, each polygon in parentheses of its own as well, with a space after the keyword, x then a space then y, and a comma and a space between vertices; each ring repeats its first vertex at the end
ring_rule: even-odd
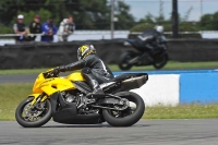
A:
MULTIPOLYGON (((35 14, 41 16, 41 22, 52 17, 59 23, 68 15, 73 15, 76 29, 110 29, 110 1, 108 0, 1 0, 0 1, 0 33, 12 33, 12 25, 17 14, 25 16, 29 24, 35 14)), ((124 1, 117 1, 114 5, 116 29, 135 29, 135 27, 152 27, 162 24, 171 31, 171 17, 164 16, 164 3, 160 3, 159 15, 150 13, 140 21, 130 13, 130 5, 124 1), (143 25, 143 26, 142 26, 143 25)), ((205 14, 199 22, 189 22, 192 8, 185 15, 180 15, 180 31, 217 31, 218 12, 205 14)), ((138 29, 138 28, 136 28, 138 29)), ((143 31, 140 28, 140 31, 143 31)))

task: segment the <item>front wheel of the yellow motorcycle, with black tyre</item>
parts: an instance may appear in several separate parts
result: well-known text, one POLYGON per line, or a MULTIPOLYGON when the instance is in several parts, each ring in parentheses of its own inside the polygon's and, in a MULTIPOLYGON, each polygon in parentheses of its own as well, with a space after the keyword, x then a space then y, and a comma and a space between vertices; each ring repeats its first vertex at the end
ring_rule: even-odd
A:
POLYGON ((51 118, 51 102, 46 99, 35 107, 31 106, 33 97, 22 101, 15 111, 15 119, 24 128, 38 128, 47 123, 51 118))

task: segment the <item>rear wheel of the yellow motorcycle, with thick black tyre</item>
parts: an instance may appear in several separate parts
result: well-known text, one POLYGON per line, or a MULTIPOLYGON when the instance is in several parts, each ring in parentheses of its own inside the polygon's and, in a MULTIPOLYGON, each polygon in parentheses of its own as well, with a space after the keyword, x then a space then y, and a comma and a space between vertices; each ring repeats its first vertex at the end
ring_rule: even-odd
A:
POLYGON ((102 110, 105 120, 113 126, 131 126, 135 124, 143 117, 145 111, 145 104, 142 97, 133 92, 120 92, 114 95, 128 99, 135 105, 135 108, 129 107, 123 111, 105 109, 102 110))

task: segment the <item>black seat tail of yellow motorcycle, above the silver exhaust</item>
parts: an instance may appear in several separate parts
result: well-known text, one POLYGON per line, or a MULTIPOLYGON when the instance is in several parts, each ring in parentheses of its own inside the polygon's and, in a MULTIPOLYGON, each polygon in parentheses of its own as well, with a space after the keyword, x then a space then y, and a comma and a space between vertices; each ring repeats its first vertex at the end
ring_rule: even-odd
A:
POLYGON ((110 80, 110 82, 121 82, 130 77, 136 77, 136 76, 142 76, 142 75, 147 75, 147 73, 124 73, 110 80))

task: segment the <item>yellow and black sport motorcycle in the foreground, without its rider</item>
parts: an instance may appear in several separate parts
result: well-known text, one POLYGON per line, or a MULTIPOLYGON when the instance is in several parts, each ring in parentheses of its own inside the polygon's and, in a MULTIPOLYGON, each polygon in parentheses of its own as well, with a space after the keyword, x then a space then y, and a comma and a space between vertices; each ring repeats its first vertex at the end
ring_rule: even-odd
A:
POLYGON ((130 126, 143 116, 145 104, 133 92, 148 80, 146 73, 121 74, 100 84, 104 98, 95 98, 80 72, 60 77, 53 69, 38 75, 33 94, 15 111, 15 119, 24 128, 38 128, 51 118, 66 124, 108 122, 113 126, 130 126))

